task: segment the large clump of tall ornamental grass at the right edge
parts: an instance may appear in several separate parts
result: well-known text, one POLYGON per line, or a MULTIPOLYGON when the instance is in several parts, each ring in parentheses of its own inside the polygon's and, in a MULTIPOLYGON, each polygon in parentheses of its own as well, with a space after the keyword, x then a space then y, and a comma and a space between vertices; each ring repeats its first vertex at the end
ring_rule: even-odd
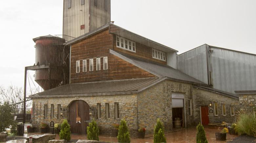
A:
POLYGON ((238 111, 235 132, 239 135, 256 136, 256 117, 252 113, 238 111))

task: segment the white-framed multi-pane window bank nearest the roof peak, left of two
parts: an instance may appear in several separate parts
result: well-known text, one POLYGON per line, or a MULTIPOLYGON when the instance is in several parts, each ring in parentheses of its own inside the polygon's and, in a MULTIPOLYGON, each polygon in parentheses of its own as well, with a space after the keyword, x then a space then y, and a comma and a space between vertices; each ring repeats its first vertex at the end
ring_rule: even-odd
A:
POLYGON ((117 36, 117 47, 136 52, 135 42, 119 36, 117 36))

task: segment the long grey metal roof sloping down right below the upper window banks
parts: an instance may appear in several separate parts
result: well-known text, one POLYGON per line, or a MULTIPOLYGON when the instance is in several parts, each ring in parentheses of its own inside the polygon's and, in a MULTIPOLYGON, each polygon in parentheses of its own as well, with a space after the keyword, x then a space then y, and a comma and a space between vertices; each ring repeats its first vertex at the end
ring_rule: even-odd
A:
POLYGON ((176 70, 168 65, 165 64, 160 64, 157 62, 153 62, 150 60, 142 59, 139 57, 135 56, 130 56, 127 54, 119 53, 116 51, 113 51, 110 49, 110 53, 122 58, 123 60, 126 60, 127 62, 147 71, 150 72, 158 77, 167 77, 170 80, 175 80, 175 81, 181 81, 185 83, 191 83, 195 85, 202 85, 202 86, 207 86, 209 85, 203 83, 200 80, 197 80, 179 70, 176 70))

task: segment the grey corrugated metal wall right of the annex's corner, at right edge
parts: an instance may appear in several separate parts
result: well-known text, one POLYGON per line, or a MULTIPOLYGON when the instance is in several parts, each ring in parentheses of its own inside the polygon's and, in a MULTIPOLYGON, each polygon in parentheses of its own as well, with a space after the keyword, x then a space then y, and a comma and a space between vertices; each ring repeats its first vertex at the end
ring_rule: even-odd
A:
POLYGON ((256 55, 210 47, 213 87, 229 93, 256 89, 256 55))

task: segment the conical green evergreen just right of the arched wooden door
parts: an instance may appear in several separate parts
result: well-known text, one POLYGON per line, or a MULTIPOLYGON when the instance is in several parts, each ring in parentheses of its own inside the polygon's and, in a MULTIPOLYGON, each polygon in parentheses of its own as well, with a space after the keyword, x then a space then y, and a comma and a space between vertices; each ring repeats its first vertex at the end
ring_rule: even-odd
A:
POLYGON ((99 141, 99 127, 94 119, 87 127, 87 139, 99 141))

